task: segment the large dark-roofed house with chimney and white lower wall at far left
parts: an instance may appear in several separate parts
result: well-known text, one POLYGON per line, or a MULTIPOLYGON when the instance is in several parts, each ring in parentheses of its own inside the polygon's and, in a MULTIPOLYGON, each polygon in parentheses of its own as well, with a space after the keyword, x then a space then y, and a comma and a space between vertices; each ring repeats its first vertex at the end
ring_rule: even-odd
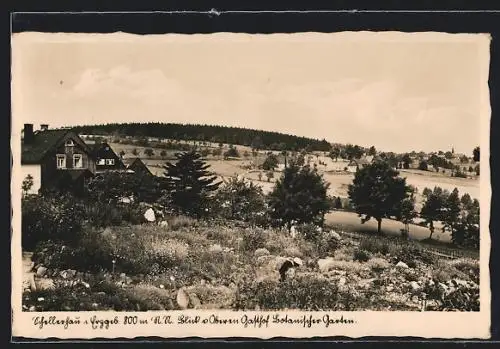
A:
POLYGON ((71 129, 49 130, 41 125, 25 124, 21 140, 23 179, 30 175, 33 186, 29 193, 40 189, 83 190, 95 175, 92 149, 71 129))

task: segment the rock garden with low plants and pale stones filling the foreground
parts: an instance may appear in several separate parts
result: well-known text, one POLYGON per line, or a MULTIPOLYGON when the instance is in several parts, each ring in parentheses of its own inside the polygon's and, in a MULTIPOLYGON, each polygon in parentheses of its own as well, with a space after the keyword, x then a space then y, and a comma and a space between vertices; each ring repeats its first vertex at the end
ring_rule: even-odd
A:
POLYGON ((98 239, 113 242, 114 259, 97 270, 78 268, 70 247, 25 255, 23 309, 479 311, 477 260, 439 258, 383 237, 322 235, 307 241, 248 227, 107 228, 98 239))

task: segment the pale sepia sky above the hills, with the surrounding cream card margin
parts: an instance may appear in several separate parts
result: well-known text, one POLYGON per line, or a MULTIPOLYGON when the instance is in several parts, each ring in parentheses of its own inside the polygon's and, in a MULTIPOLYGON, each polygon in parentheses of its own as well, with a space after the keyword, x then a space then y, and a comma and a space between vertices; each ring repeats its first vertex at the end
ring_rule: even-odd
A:
POLYGON ((22 33, 13 119, 217 124, 469 154, 488 93, 481 43, 426 33, 22 33))

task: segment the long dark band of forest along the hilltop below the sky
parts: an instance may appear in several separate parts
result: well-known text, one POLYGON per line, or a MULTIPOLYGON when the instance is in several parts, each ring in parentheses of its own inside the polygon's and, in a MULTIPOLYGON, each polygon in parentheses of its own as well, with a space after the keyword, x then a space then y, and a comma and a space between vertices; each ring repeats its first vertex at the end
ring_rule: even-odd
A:
POLYGON ((318 140, 279 132, 240 127, 175 123, 110 123, 75 126, 80 134, 131 137, 158 137, 176 140, 196 140, 214 143, 240 144, 255 149, 329 151, 325 139, 318 140))

